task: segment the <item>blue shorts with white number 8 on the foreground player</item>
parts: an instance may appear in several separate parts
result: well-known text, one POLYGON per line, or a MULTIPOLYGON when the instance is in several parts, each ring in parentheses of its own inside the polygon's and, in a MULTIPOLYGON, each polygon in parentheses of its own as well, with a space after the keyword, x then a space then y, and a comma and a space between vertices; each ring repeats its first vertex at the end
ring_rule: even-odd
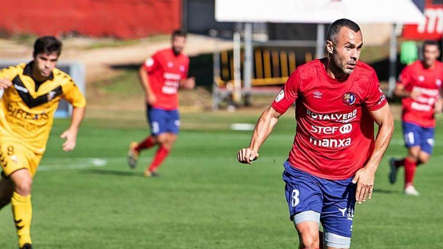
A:
POLYGON ((326 180, 293 168, 288 161, 283 165, 290 219, 296 225, 304 221, 316 221, 319 225, 321 222, 327 246, 348 248, 355 206, 353 177, 326 180))

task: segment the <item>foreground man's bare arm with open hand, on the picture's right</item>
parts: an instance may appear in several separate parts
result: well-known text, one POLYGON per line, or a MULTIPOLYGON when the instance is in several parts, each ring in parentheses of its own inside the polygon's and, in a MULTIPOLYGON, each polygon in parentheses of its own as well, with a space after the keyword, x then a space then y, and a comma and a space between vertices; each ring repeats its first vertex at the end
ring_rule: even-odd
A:
POLYGON ((371 199, 374 179, 380 161, 388 148, 394 132, 394 118, 388 104, 377 111, 371 111, 371 116, 379 125, 379 132, 375 141, 374 151, 366 165, 355 173, 352 183, 357 184, 355 199, 359 204, 371 199))

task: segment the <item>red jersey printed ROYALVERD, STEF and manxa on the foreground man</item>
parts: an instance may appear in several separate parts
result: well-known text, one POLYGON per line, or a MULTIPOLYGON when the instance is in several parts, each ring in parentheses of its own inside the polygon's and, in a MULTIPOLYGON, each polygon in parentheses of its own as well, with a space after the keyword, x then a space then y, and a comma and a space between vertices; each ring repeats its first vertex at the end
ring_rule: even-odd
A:
POLYGON ((272 107, 283 114, 296 102, 290 164, 320 178, 343 180, 370 158, 374 120, 369 112, 387 101, 371 66, 358 62, 348 79, 340 82, 327 74, 324 60, 299 66, 272 107))

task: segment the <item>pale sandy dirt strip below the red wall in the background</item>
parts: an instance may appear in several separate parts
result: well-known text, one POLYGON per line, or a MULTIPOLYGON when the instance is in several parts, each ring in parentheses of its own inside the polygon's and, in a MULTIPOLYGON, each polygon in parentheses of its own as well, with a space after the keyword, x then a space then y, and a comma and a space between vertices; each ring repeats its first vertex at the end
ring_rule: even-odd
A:
MULTIPOLYGON (((118 70, 113 69, 111 65, 139 64, 155 51, 170 46, 167 36, 163 39, 156 38, 154 41, 149 38, 142 39, 134 45, 91 49, 91 44, 94 42, 100 43, 100 39, 70 38, 63 40, 64 48, 60 57, 61 60, 78 60, 84 63, 87 83, 112 77, 118 70)), ((212 52, 216 42, 219 49, 232 47, 230 41, 191 34, 188 36, 185 53, 193 56, 212 52)), ((31 54, 32 44, 0 39, 0 58, 30 60, 31 54)))

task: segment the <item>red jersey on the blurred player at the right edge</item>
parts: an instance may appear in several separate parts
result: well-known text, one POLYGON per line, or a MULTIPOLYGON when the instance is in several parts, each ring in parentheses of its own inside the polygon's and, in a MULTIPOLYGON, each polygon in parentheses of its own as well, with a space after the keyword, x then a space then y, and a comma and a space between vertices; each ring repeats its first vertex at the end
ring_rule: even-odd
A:
POLYGON ((403 68, 398 79, 397 84, 404 85, 406 91, 420 92, 416 99, 402 99, 403 121, 423 127, 434 127, 434 107, 441 91, 443 63, 435 61, 434 67, 425 68, 422 62, 417 60, 403 68))

